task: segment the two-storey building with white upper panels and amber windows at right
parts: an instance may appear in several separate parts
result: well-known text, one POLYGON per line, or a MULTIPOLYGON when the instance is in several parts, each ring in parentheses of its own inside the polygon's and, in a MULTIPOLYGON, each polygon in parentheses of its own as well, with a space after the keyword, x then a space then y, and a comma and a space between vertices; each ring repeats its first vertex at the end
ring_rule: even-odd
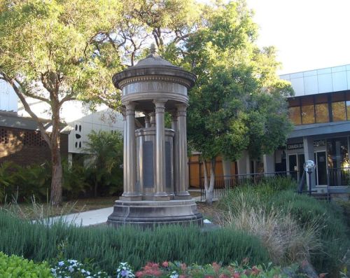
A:
MULTIPOLYGON (((300 180, 304 162, 314 160, 311 188, 319 193, 346 192, 350 185, 350 65, 280 77, 290 81, 295 91, 288 98, 295 127, 286 148, 263 155, 264 172, 289 172, 300 180)), ((256 172, 253 165, 244 155, 237 161, 238 173, 256 172)))

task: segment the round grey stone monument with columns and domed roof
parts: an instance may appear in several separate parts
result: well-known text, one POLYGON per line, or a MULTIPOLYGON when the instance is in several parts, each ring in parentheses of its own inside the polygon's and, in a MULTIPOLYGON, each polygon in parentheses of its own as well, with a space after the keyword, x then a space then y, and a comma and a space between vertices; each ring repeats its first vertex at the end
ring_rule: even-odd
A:
POLYGON ((169 223, 202 225, 188 193, 187 91, 195 75, 151 55, 113 76, 124 109, 124 192, 114 204, 109 225, 151 227, 169 223), (144 127, 135 129, 135 111, 144 127), (165 111, 172 128, 165 128, 165 111))

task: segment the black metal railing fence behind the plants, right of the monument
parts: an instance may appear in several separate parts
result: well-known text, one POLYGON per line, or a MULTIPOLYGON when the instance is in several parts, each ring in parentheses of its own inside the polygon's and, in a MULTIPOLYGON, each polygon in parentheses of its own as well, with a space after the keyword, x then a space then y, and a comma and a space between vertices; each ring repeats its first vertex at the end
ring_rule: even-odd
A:
MULTIPOLYGON (((214 182, 213 198, 219 199, 224 197, 228 191, 237 186, 244 186, 246 184, 258 185, 259 183, 272 181, 281 176, 288 176, 290 179, 297 179, 297 171, 290 172, 271 172, 271 173, 255 173, 255 174, 237 174, 232 176, 216 176, 214 182)), ((210 177, 208 177, 208 183, 210 177)), ((206 200, 206 192, 204 188, 204 177, 201 178, 200 183, 200 199, 206 200)))

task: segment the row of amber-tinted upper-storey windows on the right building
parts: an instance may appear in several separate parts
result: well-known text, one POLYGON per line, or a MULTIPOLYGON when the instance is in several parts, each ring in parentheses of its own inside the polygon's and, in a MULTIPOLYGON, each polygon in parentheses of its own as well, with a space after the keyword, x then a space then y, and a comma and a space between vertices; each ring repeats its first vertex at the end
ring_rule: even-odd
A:
POLYGON ((295 125, 350 120, 350 91, 293 97, 288 104, 295 125))

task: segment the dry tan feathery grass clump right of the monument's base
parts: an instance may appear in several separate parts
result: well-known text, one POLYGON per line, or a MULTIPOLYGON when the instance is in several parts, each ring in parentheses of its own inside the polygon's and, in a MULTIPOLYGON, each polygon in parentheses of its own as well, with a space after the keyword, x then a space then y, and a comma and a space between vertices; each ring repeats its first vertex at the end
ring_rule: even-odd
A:
POLYGON ((260 237, 269 251, 272 262, 286 265, 309 258, 311 252, 319 249, 317 228, 309 225, 301 228, 290 213, 279 209, 266 209, 258 197, 255 202, 250 195, 238 193, 232 209, 223 214, 222 225, 250 232, 260 237), (239 204, 239 205, 238 205, 239 204))

